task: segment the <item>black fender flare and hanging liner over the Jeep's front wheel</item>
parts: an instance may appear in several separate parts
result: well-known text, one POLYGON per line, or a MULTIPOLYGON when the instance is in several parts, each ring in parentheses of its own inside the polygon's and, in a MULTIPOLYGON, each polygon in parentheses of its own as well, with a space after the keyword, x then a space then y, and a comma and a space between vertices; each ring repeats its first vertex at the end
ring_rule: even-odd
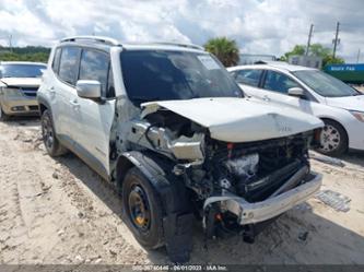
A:
POLYGON ((193 214, 184 180, 174 176, 173 164, 164 161, 153 152, 122 153, 117 163, 117 187, 122 188, 128 169, 138 167, 156 190, 162 203, 164 243, 169 259, 186 262, 192 249, 193 214))

